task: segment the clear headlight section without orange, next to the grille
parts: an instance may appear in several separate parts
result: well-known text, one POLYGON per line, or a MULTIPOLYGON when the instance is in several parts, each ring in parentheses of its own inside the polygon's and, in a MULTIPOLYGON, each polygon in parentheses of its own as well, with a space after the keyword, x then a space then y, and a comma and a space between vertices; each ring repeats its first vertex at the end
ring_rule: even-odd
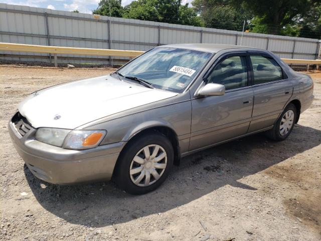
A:
POLYGON ((70 131, 71 130, 56 128, 39 128, 36 132, 36 140, 49 145, 61 147, 70 131))

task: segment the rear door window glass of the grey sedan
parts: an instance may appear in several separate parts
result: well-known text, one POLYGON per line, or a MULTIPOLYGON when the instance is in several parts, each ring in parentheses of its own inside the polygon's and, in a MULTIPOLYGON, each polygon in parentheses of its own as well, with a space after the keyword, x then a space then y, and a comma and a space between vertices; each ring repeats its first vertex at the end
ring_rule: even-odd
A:
POLYGON ((254 84, 282 79, 282 69, 274 59, 260 55, 252 55, 250 58, 253 66, 254 84))

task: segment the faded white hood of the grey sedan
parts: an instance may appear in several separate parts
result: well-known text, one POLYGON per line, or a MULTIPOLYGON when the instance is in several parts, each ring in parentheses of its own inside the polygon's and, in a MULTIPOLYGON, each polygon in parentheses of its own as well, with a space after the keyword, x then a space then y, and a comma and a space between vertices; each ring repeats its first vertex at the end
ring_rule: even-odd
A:
POLYGON ((18 109, 34 128, 75 129, 95 119, 175 95, 107 75, 39 90, 23 100, 18 109))

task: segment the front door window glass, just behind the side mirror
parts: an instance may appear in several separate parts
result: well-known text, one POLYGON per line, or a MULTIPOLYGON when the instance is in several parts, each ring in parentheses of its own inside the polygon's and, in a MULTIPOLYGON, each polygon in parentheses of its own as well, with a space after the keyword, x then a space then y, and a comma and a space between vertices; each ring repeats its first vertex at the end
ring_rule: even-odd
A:
POLYGON ((217 64, 207 77, 207 83, 225 85, 225 89, 236 89, 248 85, 246 58, 228 57, 217 64))

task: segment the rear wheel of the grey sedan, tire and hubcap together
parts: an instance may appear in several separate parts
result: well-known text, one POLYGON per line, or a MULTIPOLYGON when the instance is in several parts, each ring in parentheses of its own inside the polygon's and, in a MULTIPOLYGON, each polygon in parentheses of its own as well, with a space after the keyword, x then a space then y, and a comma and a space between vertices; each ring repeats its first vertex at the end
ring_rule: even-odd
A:
POLYGON ((284 141, 292 132, 297 117, 297 111, 294 104, 289 103, 280 114, 275 125, 271 130, 265 132, 266 136, 274 141, 284 141), (286 115, 287 114, 287 115, 286 115), (284 121, 286 128, 284 128, 284 121), (283 125, 283 128, 281 128, 283 125))

